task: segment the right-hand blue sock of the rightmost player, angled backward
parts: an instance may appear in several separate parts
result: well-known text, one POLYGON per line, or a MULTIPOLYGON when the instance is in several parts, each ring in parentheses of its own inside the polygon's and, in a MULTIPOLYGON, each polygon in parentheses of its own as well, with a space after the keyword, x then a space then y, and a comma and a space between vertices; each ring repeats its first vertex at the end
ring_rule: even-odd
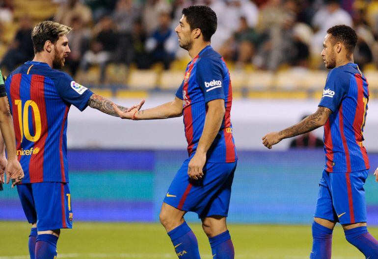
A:
POLYGON ((367 227, 358 227, 344 231, 348 242, 369 259, 378 259, 378 241, 368 232, 367 227))

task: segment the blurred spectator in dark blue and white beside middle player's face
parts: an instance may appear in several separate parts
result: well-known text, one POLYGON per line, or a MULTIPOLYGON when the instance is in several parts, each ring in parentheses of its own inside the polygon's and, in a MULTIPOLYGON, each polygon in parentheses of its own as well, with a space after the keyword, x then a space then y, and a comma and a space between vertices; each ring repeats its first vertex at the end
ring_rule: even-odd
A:
POLYGON ((174 45, 178 45, 177 36, 170 27, 169 13, 162 12, 159 16, 159 26, 146 41, 146 51, 150 55, 151 64, 162 62, 164 69, 169 69, 174 60, 174 45), (175 42, 175 44, 172 42, 175 42), (172 47, 173 46, 173 47, 172 47))

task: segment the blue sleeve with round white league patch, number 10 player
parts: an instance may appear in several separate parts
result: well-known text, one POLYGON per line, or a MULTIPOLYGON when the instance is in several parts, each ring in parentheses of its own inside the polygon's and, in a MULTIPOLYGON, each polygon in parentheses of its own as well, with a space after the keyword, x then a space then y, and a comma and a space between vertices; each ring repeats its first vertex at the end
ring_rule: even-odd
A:
POLYGON ((59 74, 55 83, 56 90, 60 97, 67 103, 74 105, 80 111, 87 107, 88 100, 93 94, 88 88, 78 84, 66 73, 59 74))

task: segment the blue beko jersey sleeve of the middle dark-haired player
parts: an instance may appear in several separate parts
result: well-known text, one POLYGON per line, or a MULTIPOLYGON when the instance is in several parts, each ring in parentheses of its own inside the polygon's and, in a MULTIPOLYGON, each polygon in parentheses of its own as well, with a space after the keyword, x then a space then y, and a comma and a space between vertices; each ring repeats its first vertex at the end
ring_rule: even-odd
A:
POLYGON ((225 99, 222 65, 215 60, 205 58, 198 61, 197 82, 205 95, 205 102, 225 99))

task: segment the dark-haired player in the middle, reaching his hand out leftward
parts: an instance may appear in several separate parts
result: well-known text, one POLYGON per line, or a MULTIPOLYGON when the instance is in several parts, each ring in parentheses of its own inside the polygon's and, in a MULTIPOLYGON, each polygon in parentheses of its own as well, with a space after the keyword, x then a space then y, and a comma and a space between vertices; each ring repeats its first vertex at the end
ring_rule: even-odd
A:
POLYGON ((226 226, 237 154, 230 111, 232 88, 222 57, 210 46, 216 14, 208 6, 184 8, 175 31, 188 50, 184 80, 173 101, 152 109, 125 113, 121 118, 162 119, 184 115, 189 158, 174 177, 160 212, 160 221, 180 259, 199 259, 195 235, 184 220, 196 212, 209 237, 214 259, 233 259, 234 247, 226 226))

